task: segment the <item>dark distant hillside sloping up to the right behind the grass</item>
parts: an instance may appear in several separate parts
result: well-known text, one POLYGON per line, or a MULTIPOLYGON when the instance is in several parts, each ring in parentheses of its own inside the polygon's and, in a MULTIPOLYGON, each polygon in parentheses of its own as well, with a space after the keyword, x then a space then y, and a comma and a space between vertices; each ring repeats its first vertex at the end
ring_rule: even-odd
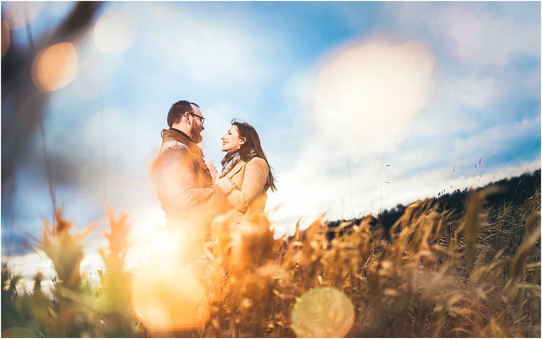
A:
MULTIPOLYGON (((525 173, 519 177, 491 182, 491 184, 476 188, 474 191, 480 190, 488 190, 489 192, 485 199, 485 208, 497 209, 505 204, 507 206, 521 206, 525 203, 526 199, 532 197, 535 192, 540 191, 540 169, 532 173, 525 173)), ((436 206, 442 210, 455 210, 457 214, 461 215, 465 202, 472 191, 465 188, 463 191, 456 190, 453 193, 445 194, 444 192, 438 193, 437 197, 430 198, 432 200, 431 206, 436 206)), ((326 221, 327 227, 330 228, 328 238, 331 239, 334 237, 335 229, 341 223, 353 221, 353 224, 359 224, 364 218, 371 218, 370 224, 373 226, 382 226, 385 235, 388 235, 390 227, 403 215, 406 206, 408 205, 398 204, 395 208, 378 214, 378 218, 366 216, 353 220, 326 221)), ((344 227, 342 231, 346 231, 347 229, 349 229, 348 226, 344 227)))

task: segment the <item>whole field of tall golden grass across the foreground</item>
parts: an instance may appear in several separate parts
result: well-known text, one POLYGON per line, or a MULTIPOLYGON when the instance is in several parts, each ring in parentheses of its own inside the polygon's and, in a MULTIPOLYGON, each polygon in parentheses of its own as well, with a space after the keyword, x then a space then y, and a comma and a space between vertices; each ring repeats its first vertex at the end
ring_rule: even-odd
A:
MULTIPOLYGON (((141 314, 145 301, 133 293, 141 283, 124 270, 124 217, 111 218, 109 246, 102 251, 106 267, 91 289, 79 274, 84 235, 71 235, 59 211, 36 244, 57 272, 53 298, 41 291, 39 272, 34 291, 18 295, 18 277, 3 268, 2 336, 538 338, 536 191, 521 205, 498 208, 484 207, 487 190, 473 191, 462 212, 416 201, 391 226, 389 238, 372 217, 343 223, 334 234, 316 220, 293 237, 268 243, 270 258, 250 223, 229 232, 227 218, 215 219, 217 241, 198 268, 212 288, 199 288, 206 307, 192 312, 202 322, 191 330, 157 331, 141 314)), ((190 295, 176 295, 171 279, 160 285, 153 278, 146 276, 146 296, 169 298, 176 307, 149 314, 178 318, 168 312, 184 309, 190 295)))

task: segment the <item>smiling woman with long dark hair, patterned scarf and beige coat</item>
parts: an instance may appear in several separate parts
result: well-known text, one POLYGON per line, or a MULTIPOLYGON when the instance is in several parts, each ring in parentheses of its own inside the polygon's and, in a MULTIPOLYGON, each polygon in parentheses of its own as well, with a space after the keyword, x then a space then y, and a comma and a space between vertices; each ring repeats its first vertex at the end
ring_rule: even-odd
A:
MULTIPOLYGON (((267 190, 276 191, 272 167, 263 152, 256 129, 246 122, 231 120, 231 127, 222 136, 222 151, 228 152, 222 163, 221 177, 234 181, 236 188, 227 199, 233 207, 234 217, 240 223, 246 214, 263 214, 267 190)), ((206 159, 213 178, 218 171, 206 159)))

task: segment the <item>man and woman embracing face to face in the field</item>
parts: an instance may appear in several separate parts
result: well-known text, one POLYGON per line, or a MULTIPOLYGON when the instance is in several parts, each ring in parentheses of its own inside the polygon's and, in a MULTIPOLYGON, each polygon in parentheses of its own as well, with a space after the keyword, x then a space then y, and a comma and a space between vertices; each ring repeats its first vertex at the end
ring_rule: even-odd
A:
MULTIPOLYGON (((191 240, 209 240, 210 224, 227 213, 234 225, 247 214, 263 214, 267 191, 276 190, 260 138, 246 122, 232 120, 222 136, 222 169, 217 171, 197 146, 205 118, 196 103, 180 100, 167 113, 155 180, 169 229, 191 240)), ((197 252, 197 251, 196 251, 197 252)), ((188 253, 186 253, 188 254, 188 253)))

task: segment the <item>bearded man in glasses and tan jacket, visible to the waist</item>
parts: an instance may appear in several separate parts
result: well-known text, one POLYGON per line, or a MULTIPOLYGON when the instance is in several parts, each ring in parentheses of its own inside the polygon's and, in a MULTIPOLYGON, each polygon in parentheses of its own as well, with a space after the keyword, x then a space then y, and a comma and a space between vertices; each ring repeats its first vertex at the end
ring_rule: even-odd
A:
POLYGON ((155 180, 168 227, 206 227, 235 186, 227 178, 211 178, 196 145, 202 141, 204 120, 199 106, 186 100, 174 103, 167 113, 170 128, 162 131, 155 180))

